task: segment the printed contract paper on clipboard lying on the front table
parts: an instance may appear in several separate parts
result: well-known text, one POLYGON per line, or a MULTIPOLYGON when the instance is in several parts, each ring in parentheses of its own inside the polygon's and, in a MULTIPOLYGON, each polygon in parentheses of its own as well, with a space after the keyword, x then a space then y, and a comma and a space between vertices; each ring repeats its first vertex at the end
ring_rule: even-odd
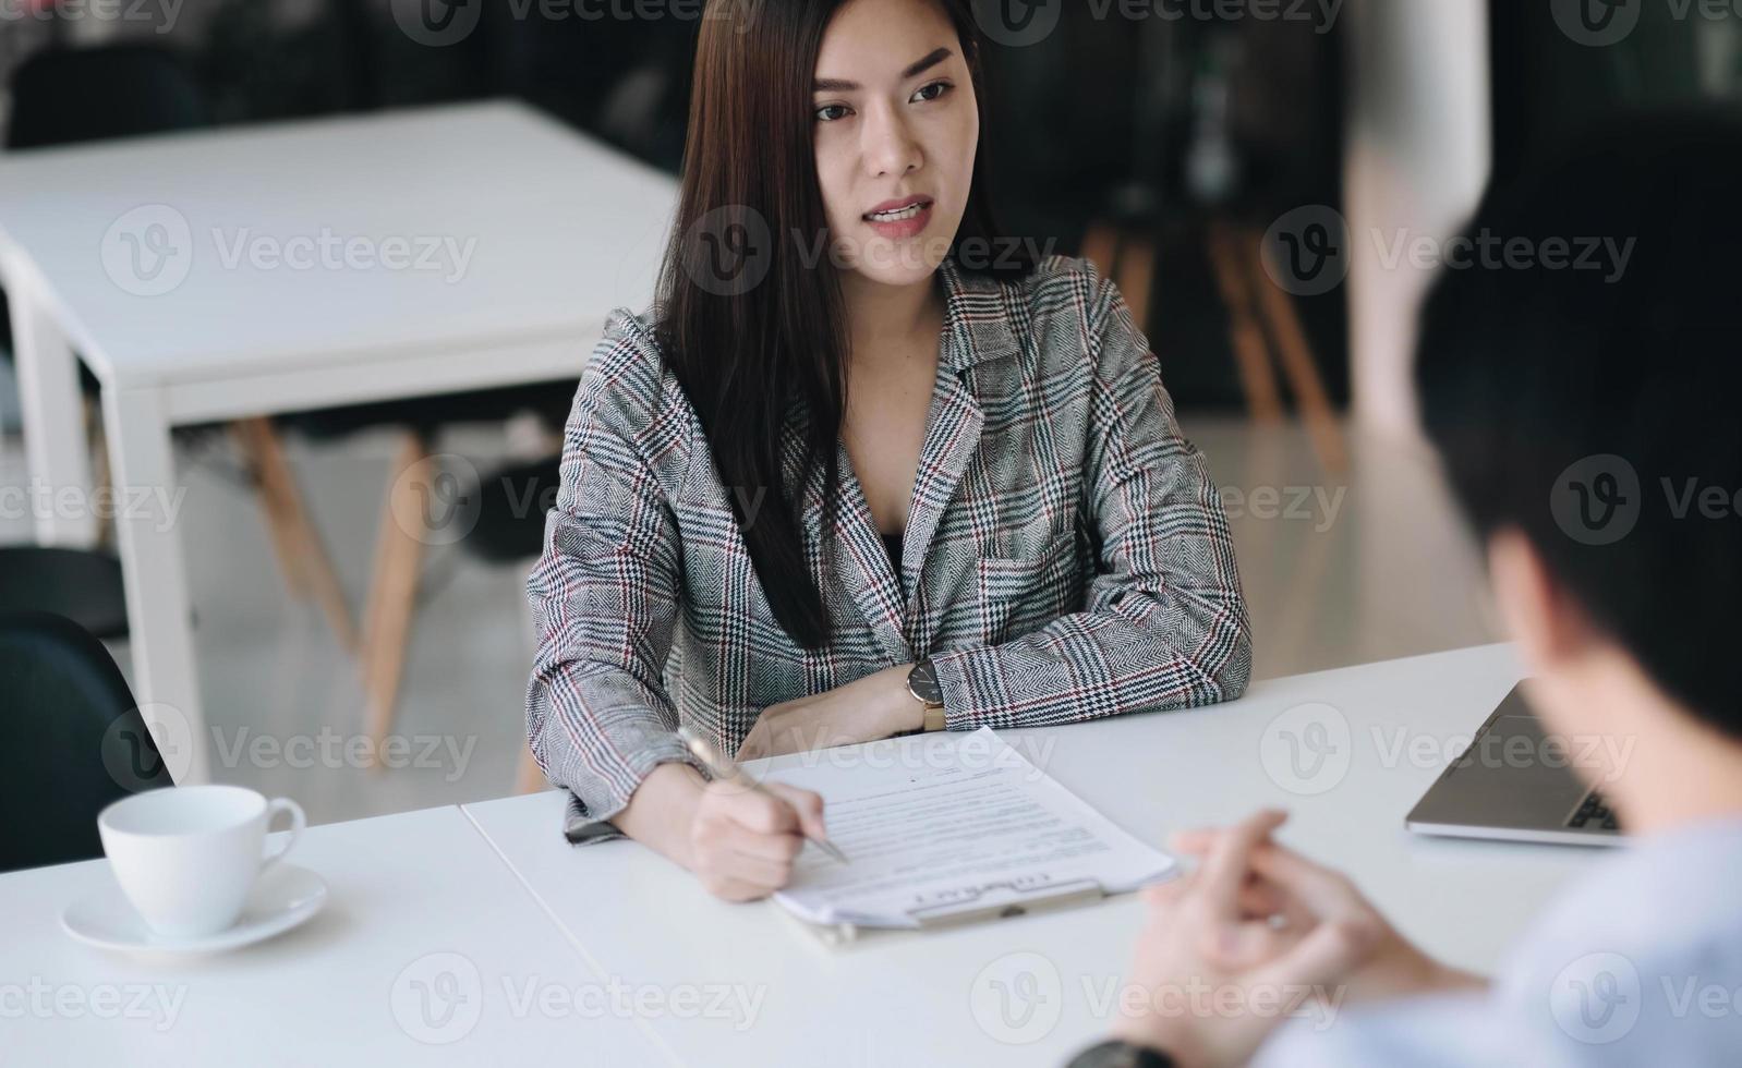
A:
POLYGON ((812 923, 920 927, 920 916, 1073 887, 1134 890, 1176 866, 986 727, 808 753, 763 779, 822 794, 829 840, 850 861, 805 848, 775 894, 812 923))

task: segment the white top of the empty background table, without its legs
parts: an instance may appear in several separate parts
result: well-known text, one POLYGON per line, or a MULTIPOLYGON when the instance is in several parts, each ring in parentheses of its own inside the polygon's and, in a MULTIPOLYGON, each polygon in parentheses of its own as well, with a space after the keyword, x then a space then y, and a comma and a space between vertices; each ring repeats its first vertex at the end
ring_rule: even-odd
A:
POLYGON ((0 190, 7 270, 108 387, 516 338, 578 375, 610 308, 650 300, 676 204, 507 101, 10 153, 0 190))

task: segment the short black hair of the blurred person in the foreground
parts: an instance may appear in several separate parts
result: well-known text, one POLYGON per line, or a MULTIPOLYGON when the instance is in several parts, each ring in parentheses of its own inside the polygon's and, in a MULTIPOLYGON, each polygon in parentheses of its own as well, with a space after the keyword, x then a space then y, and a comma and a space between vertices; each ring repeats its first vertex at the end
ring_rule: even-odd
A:
POLYGON ((1742 739, 1742 120, 1617 117, 1489 190, 1463 237, 1488 263, 1448 246, 1465 267, 1442 268, 1416 350, 1453 493, 1742 739))

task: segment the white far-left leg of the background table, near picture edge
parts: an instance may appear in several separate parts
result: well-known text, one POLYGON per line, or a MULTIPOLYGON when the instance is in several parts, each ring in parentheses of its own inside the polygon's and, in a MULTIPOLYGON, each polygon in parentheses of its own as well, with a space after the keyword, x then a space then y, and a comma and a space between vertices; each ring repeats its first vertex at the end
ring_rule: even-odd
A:
POLYGON ((94 545, 98 519, 91 493, 85 413, 78 395, 78 357, 28 284, 14 281, 7 289, 7 303, 12 308, 12 347, 31 502, 37 509, 37 540, 45 545, 94 545))

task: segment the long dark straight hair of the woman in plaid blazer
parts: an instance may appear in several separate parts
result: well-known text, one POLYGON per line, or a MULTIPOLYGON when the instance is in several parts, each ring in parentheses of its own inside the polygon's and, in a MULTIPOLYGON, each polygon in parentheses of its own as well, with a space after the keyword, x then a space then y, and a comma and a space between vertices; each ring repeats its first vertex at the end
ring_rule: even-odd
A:
MULTIPOLYGON (((812 77, 824 30, 845 0, 709 0, 695 52, 690 131, 671 244, 660 270, 657 335, 707 436, 719 481, 775 618, 800 646, 829 638, 822 596, 805 566, 798 505, 817 463, 824 500, 840 507, 836 446, 847 409, 847 329, 840 274, 826 249, 817 183, 812 77), (733 17, 742 12, 742 19, 733 17), (770 228, 777 221, 777 230, 770 228), (787 237, 808 235, 803 246, 787 237), (737 272, 718 270, 721 249, 737 272), (808 415, 801 477, 782 477, 787 408, 808 415), (744 514, 744 497, 761 507, 744 514), (770 582, 772 580, 772 582, 770 582)), ((981 112, 962 226, 949 247, 962 270, 1026 275, 1028 242, 1000 239, 986 193, 986 92, 970 0, 937 0, 955 24, 981 112), (965 242, 977 254, 960 254, 965 242), (986 254, 998 247, 1000 254, 986 254)))

